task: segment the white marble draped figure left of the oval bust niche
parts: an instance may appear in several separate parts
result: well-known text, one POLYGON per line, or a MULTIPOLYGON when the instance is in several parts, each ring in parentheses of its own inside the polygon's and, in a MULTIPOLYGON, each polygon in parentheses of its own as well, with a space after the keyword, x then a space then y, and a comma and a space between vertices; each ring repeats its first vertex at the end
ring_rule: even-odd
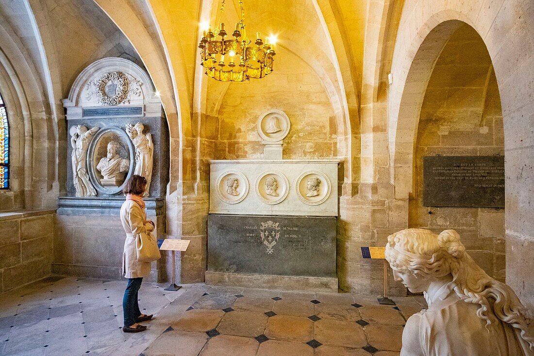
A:
POLYGON ((77 125, 70 128, 70 144, 72 145, 72 172, 77 197, 96 196, 97 191, 89 180, 87 172, 87 149, 92 136, 99 127, 88 130, 86 126, 77 125))

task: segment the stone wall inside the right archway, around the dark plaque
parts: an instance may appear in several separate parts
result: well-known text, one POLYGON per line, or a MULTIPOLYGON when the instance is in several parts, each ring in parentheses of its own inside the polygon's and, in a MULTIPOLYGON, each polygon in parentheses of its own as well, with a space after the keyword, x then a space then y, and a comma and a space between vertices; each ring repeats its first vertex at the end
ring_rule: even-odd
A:
POLYGON ((504 154, 499 90, 491 59, 472 27, 445 45, 428 82, 415 150, 409 227, 455 229, 486 273, 504 281, 504 208, 423 206, 423 157, 504 154))

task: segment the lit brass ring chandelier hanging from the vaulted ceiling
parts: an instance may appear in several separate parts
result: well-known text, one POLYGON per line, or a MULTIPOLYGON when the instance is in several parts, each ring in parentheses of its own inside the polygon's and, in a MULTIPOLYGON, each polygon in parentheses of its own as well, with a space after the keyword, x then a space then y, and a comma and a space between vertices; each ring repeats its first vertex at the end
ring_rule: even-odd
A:
MULTIPOLYGON (((221 17, 224 2, 219 9, 221 17)), ((239 0, 241 17, 235 24, 233 39, 226 40, 224 23, 213 31, 211 26, 204 31, 199 43, 201 64, 206 74, 221 82, 242 82, 250 78, 261 79, 273 71, 274 44, 276 38, 266 37, 265 43, 261 33, 256 33, 256 42, 248 39, 245 31, 245 7, 239 0), (215 38, 217 34, 220 38, 215 38)))

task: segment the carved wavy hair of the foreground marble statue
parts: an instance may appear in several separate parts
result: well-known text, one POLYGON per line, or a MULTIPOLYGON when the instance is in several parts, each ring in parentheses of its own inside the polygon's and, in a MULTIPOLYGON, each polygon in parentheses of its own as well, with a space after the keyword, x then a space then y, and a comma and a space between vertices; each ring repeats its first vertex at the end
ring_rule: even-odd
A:
POLYGON ((478 304, 476 314, 486 326, 498 319, 516 328, 534 350, 533 318, 508 285, 491 278, 465 252, 454 230, 436 235, 406 229, 388 237, 386 259, 392 268, 419 276, 452 275, 454 292, 466 303, 478 304))

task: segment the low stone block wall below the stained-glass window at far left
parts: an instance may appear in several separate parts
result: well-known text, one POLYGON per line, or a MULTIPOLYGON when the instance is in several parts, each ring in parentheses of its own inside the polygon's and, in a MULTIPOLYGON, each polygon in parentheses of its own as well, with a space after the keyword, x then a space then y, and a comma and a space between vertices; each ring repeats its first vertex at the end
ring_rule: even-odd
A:
POLYGON ((0 214, 0 292, 51 273, 55 211, 0 214))

